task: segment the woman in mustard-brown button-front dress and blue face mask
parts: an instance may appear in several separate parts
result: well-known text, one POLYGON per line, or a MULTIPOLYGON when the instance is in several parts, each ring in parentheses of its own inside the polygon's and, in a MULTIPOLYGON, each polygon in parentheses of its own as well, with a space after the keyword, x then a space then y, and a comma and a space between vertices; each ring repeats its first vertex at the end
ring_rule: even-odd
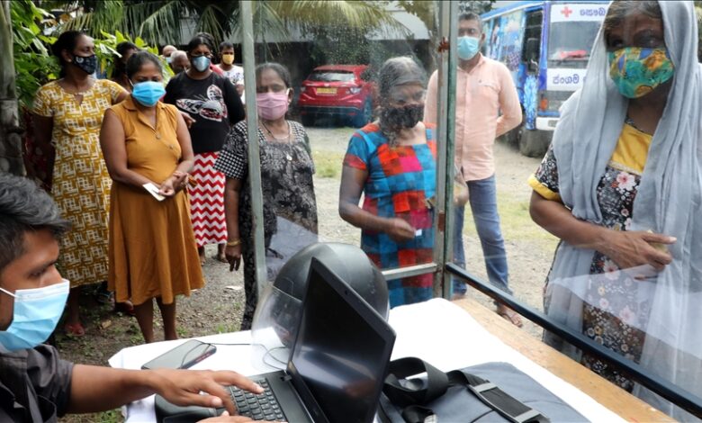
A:
POLYGON ((134 53, 126 72, 131 95, 105 112, 100 133, 113 181, 108 287, 117 302, 134 304, 146 342, 154 340, 153 299, 165 338, 175 339, 175 297, 204 285, 184 192, 193 148, 183 116, 159 101, 158 58, 134 53))

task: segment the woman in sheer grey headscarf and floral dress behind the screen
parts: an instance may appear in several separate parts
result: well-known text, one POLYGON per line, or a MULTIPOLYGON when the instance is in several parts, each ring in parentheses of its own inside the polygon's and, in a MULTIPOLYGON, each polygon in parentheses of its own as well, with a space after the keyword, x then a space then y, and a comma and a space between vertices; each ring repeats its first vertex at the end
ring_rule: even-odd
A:
MULTIPOLYGON (((562 242, 545 311, 702 392, 702 145, 692 2, 614 2, 536 174, 532 218, 562 242)), ((545 341, 677 419, 694 419, 552 334, 545 341)))

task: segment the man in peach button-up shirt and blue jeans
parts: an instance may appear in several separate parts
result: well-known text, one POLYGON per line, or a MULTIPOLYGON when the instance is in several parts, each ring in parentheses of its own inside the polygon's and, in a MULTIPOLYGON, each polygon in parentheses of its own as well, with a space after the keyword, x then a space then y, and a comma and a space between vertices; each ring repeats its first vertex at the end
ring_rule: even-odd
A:
MULTIPOLYGON (((455 164, 468 184, 475 229, 481 239, 491 284, 507 293, 507 255, 500 230, 492 146, 495 138, 522 121, 517 88, 509 69, 480 53, 485 34, 477 14, 462 14, 458 23, 458 71, 456 73, 455 164), (500 115, 501 111, 501 115, 500 115)), ((425 122, 437 122, 437 72, 429 79, 425 122)), ((454 257, 465 266, 464 207, 456 207, 454 257)), ((465 284, 454 281, 454 297, 465 294, 465 284)), ((498 313, 521 327, 518 314, 503 304, 498 313)))

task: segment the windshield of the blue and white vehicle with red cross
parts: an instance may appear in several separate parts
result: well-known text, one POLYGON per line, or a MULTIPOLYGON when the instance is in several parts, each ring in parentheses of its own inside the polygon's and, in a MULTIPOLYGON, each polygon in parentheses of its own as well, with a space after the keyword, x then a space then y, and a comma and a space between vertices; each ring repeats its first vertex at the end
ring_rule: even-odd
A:
POLYGON ((551 23, 548 37, 549 67, 587 67, 599 22, 551 23))

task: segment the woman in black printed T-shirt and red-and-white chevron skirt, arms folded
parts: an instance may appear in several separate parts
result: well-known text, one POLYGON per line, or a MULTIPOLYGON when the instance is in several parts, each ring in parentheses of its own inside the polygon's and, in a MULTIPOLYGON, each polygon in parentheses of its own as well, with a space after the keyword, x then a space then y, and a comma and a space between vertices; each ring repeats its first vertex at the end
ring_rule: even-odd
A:
POLYGON ((186 52, 191 66, 168 82, 164 103, 175 104, 195 120, 190 137, 195 153, 192 175, 197 184, 190 187, 189 193, 200 263, 204 264, 207 244, 218 244, 217 258, 226 262, 224 175, 213 166, 229 127, 244 119, 244 107, 229 79, 211 71, 211 58, 215 54, 211 35, 202 32, 196 35, 186 52))

